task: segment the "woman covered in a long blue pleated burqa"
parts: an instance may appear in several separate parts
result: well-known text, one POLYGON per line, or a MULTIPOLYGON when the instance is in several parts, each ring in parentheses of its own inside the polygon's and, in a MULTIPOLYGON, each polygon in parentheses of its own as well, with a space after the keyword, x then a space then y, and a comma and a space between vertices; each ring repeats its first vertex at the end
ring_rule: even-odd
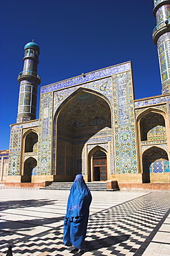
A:
POLYGON ((91 201, 92 195, 83 176, 81 174, 76 175, 67 201, 67 212, 63 227, 65 246, 75 246, 80 250, 85 248, 85 235, 91 201))

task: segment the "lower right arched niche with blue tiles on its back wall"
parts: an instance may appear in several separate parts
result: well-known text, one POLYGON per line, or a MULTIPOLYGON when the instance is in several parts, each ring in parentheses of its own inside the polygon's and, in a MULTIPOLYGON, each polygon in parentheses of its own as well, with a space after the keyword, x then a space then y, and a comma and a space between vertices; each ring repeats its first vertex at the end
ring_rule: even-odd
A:
POLYGON ((142 156, 143 183, 150 183, 150 174, 169 172, 167 152, 160 147, 150 147, 142 156))

